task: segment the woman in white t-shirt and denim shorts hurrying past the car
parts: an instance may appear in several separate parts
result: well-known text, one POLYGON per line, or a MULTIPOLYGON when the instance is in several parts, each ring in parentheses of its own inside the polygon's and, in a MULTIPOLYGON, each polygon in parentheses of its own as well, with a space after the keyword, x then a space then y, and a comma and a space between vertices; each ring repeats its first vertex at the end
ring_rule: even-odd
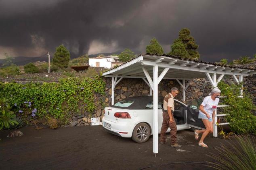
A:
POLYGON ((198 142, 198 145, 201 147, 208 147, 204 143, 204 138, 209 133, 213 133, 214 115, 215 115, 215 109, 218 106, 219 97, 220 97, 220 89, 214 88, 212 89, 212 93, 210 93, 209 96, 204 98, 204 101, 199 107, 198 118, 201 118, 202 121, 204 122, 204 126, 206 126, 206 129, 195 130, 195 139, 198 139, 199 133, 203 133, 200 141, 198 142))

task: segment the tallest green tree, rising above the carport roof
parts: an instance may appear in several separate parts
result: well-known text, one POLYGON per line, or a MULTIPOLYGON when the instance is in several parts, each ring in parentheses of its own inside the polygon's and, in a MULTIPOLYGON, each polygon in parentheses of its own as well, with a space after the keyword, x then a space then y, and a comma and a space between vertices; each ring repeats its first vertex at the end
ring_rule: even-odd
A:
POLYGON ((195 44, 195 39, 190 35, 189 29, 183 28, 179 32, 178 39, 174 39, 169 54, 183 58, 199 59, 200 54, 197 48, 198 45, 195 44))

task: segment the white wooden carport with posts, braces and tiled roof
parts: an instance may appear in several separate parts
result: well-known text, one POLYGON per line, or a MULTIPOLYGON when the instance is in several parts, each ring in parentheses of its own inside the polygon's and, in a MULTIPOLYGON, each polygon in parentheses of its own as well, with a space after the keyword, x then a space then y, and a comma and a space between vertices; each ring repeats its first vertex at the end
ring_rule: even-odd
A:
MULTIPOLYGON (((176 80, 182 88, 183 101, 185 101, 185 91, 192 79, 206 78, 210 81, 212 87, 217 87, 218 82, 220 82, 224 75, 232 75, 235 81, 240 83, 243 81, 243 76, 253 75, 255 73, 255 70, 242 67, 227 67, 165 54, 163 56, 142 54, 117 68, 103 73, 103 76, 112 78, 112 105, 114 104, 115 85, 123 78, 143 79, 149 85, 150 95, 152 95, 153 91, 153 153, 156 154, 158 153, 158 84, 162 79, 176 80)), ((242 95, 242 89, 240 91, 242 95)), ((216 122, 214 125, 214 136, 216 137, 216 122)))

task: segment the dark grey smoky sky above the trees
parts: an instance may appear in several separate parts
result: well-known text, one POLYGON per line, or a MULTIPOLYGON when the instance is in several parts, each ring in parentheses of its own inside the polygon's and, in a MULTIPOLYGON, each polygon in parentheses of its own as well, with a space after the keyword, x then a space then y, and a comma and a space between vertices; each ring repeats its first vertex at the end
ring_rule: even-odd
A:
POLYGON ((201 60, 256 54, 256 0, 0 0, 0 58, 54 53, 60 44, 72 58, 144 53, 153 37, 168 53, 183 27, 201 60))

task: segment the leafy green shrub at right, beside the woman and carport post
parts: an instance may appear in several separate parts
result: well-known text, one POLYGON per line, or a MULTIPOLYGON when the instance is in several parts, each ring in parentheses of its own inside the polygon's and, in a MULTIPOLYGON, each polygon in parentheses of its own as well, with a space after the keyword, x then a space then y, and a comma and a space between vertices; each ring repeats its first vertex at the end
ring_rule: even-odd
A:
POLYGON ((230 123, 231 131, 238 134, 256 134, 256 116, 253 114, 256 107, 250 95, 244 90, 243 97, 237 97, 240 95, 242 84, 229 85, 220 81, 218 87, 221 90, 221 95, 226 96, 223 98, 223 104, 229 105, 229 107, 224 107, 222 112, 229 114, 225 118, 230 123))

